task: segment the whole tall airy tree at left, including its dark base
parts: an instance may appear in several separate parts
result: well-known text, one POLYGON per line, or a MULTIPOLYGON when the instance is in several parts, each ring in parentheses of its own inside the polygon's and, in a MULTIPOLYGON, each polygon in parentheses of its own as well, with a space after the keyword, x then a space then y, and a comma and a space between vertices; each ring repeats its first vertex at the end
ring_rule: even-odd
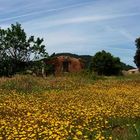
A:
POLYGON ((7 29, 0 28, 0 68, 4 66, 8 71, 10 67, 15 73, 27 62, 46 57, 48 54, 42 43, 43 39, 39 37, 27 37, 19 23, 11 24, 7 29))

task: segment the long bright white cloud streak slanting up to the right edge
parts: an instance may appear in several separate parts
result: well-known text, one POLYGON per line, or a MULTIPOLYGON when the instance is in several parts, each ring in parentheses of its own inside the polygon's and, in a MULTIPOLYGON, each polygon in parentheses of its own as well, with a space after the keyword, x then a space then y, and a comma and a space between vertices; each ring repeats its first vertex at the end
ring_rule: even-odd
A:
MULTIPOLYGON (((90 22, 103 22, 103 21, 112 21, 114 19, 124 19, 127 17, 134 17, 134 16, 139 16, 140 13, 126 13, 126 14, 109 14, 109 15, 92 15, 92 16, 75 16, 75 17, 70 17, 70 18, 57 18, 57 19, 50 19, 50 18, 42 18, 40 19, 39 22, 35 22, 36 20, 33 21, 28 21, 25 22, 24 25, 28 26, 29 24, 32 24, 34 26, 30 27, 32 28, 52 28, 55 26, 62 26, 62 25, 71 25, 71 24, 81 24, 81 23, 90 23, 90 22)), ((121 32, 121 31, 120 31, 121 32)), ((122 31, 122 34, 125 34, 122 31)), ((130 36, 129 36, 130 38, 130 36)))

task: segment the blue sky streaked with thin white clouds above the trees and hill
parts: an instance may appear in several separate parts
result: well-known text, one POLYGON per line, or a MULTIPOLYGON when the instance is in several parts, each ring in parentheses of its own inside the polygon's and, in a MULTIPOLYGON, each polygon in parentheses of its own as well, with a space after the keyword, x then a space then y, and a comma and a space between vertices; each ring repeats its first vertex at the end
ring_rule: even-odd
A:
POLYGON ((16 22, 44 38, 49 55, 105 50, 135 66, 140 0, 0 0, 0 27, 16 22))

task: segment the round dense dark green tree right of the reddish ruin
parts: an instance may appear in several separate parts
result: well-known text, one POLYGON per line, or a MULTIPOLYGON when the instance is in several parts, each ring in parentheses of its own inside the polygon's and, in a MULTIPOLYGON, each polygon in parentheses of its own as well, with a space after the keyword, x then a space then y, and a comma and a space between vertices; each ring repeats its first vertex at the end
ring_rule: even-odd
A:
POLYGON ((118 75, 121 72, 121 62, 118 57, 113 57, 109 52, 97 52, 93 56, 92 69, 99 75, 118 75))

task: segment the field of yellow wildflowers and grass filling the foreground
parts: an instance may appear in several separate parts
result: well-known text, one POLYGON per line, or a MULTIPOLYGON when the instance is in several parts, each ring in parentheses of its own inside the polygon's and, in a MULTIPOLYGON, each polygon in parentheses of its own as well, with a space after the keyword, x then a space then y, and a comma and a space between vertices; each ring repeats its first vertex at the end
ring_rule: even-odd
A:
POLYGON ((140 76, 0 79, 0 140, 112 139, 140 139, 140 76))

